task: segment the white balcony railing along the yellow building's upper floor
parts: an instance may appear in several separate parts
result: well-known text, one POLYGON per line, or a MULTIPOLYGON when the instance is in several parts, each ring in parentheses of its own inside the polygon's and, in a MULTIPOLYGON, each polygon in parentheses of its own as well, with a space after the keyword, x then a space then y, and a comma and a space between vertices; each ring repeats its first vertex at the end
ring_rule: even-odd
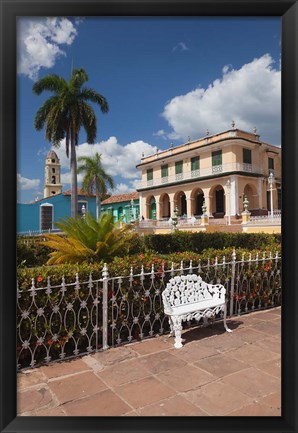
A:
POLYGON ((200 168, 189 172, 183 172, 180 175, 174 174, 167 177, 153 178, 150 181, 142 181, 137 185, 137 189, 147 188, 149 186, 164 185, 166 183, 175 183, 179 180, 198 179, 205 176, 216 175, 218 173, 229 173, 241 171, 245 173, 264 174, 262 167, 241 162, 231 162, 228 164, 216 165, 213 167, 200 168), (177 177, 178 176, 178 177, 177 177))

